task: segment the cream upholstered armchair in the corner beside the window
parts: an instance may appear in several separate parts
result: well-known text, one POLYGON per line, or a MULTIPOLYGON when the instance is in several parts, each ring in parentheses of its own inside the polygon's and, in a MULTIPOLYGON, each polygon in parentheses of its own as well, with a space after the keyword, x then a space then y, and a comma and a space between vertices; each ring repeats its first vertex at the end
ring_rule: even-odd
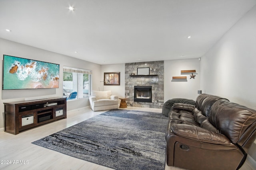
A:
POLYGON ((89 97, 93 111, 118 109, 118 96, 111 95, 111 91, 92 91, 89 97))

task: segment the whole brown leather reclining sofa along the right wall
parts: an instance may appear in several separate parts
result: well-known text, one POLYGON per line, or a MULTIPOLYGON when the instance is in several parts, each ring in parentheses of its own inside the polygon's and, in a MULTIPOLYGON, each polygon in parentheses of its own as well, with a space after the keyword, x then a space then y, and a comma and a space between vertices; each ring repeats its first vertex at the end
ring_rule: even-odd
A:
POLYGON ((190 170, 236 170, 256 139, 256 110, 201 94, 196 106, 173 104, 166 163, 190 170))

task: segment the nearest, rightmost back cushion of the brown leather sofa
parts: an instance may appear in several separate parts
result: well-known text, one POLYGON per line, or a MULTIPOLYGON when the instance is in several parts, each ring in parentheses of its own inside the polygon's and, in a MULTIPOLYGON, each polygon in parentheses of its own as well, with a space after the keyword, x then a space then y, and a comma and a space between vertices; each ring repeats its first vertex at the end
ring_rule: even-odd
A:
POLYGON ((212 105, 209 121, 232 143, 242 146, 256 131, 256 110, 227 100, 218 100, 212 105))

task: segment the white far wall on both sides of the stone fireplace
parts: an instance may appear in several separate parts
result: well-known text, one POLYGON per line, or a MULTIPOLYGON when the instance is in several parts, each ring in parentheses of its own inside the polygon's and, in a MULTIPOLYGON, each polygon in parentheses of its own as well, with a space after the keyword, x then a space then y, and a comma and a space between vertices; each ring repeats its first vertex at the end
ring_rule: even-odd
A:
MULTIPOLYGON (((111 90, 112 94, 125 97, 125 64, 102 65, 100 81, 104 79, 104 72, 120 72, 120 86, 104 86, 104 90, 111 90)), ((100 90, 102 90, 102 84, 99 87, 100 90)), ((200 61, 198 59, 164 61, 164 102, 172 98, 196 100, 197 90, 200 90, 200 61), (195 79, 190 79, 191 74, 181 75, 180 70, 196 70, 195 79), (187 82, 172 82, 172 76, 187 76, 187 82)))

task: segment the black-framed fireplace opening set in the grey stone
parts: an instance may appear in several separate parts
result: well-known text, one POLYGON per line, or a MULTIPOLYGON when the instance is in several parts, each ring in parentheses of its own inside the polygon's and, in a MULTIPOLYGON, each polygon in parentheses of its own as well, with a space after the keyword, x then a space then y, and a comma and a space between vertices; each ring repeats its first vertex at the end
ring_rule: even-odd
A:
POLYGON ((152 86, 134 86, 134 102, 152 102, 152 86))

